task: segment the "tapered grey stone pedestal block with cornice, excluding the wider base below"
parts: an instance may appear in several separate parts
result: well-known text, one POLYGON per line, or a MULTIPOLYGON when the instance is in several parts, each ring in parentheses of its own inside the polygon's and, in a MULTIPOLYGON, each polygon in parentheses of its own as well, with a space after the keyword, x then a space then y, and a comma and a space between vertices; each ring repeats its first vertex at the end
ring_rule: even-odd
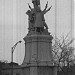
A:
POLYGON ((51 35, 30 35, 25 40, 25 58, 23 66, 52 66, 52 36, 51 35))

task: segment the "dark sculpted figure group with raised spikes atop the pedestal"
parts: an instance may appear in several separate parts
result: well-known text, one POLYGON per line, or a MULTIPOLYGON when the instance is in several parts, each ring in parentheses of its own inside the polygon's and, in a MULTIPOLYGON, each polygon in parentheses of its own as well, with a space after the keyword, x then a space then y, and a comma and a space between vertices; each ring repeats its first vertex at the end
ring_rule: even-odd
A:
POLYGON ((34 8, 31 8, 31 6, 28 4, 30 10, 26 12, 26 14, 29 16, 29 31, 34 29, 38 32, 43 32, 44 28, 48 30, 44 15, 51 9, 52 6, 47 9, 47 2, 45 9, 42 11, 39 7, 40 0, 32 0, 32 3, 34 8))

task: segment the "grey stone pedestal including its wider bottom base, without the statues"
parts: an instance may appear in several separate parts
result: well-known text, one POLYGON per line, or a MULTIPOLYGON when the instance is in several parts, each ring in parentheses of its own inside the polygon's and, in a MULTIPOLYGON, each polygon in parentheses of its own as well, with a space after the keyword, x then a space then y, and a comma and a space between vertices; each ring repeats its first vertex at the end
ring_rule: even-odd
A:
POLYGON ((57 75, 53 65, 52 39, 50 34, 33 34, 24 38, 25 58, 21 65, 24 75, 57 75))

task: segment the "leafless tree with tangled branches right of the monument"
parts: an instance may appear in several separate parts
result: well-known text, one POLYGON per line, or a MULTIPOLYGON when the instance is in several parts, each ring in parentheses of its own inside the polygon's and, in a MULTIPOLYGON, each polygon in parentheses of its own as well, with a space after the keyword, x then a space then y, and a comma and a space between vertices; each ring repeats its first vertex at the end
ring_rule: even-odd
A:
MULTIPOLYGON (((74 64, 74 47, 72 47, 72 43, 74 39, 68 39, 69 34, 63 39, 55 39, 55 43, 52 46, 52 52, 54 57, 54 64, 56 64, 60 70, 62 70, 63 66, 70 66, 74 64)), ((63 71, 63 70, 62 70, 63 71)))

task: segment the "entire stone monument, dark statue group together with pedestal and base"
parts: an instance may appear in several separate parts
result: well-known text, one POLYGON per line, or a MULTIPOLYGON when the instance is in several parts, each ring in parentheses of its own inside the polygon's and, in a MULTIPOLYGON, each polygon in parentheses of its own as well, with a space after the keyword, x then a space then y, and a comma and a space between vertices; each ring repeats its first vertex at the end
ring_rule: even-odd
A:
POLYGON ((48 26, 44 15, 51 9, 48 2, 45 9, 40 9, 40 0, 32 0, 34 8, 29 4, 28 34, 24 37, 25 57, 22 63, 24 75, 57 75, 52 57, 52 35, 48 32, 48 26))

